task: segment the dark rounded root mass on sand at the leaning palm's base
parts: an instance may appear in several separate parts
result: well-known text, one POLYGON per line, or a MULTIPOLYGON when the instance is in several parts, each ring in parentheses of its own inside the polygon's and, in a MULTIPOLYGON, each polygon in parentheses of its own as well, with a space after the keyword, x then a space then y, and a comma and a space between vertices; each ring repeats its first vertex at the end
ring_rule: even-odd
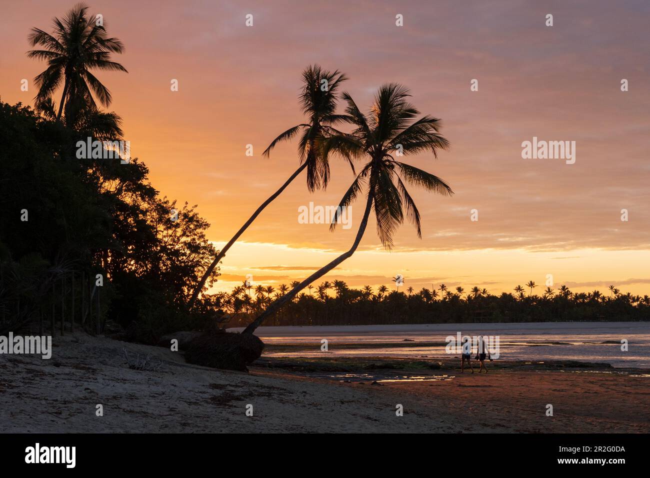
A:
POLYGON ((216 369, 248 371, 264 350, 264 342, 252 334, 207 332, 192 340, 185 351, 190 364, 216 369))

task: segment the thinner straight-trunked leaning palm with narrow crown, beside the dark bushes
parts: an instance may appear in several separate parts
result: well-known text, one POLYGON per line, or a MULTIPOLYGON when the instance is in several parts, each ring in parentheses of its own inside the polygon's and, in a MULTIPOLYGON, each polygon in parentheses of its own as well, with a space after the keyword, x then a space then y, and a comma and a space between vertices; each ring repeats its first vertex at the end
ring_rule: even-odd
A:
POLYGON ((277 198, 302 170, 307 168, 307 189, 309 191, 313 192, 320 187, 327 187, 330 179, 330 165, 321 152, 322 139, 326 135, 337 133, 337 130, 333 129, 332 126, 343 121, 343 116, 335 114, 337 103, 336 92, 340 83, 346 79, 347 77, 339 72, 339 70, 328 72, 327 70, 321 70, 318 65, 309 66, 302 73, 303 86, 300 91, 300 105, 302 112, 309 116, 309 123, 301 123, 287 129, 287 131, 272 140, 265 152, 262 153, 263 156, 268 157, 276 144, 281 141, 290 140, 300 133, 300 142, 298 142, 300 166, 289 176, 289 179, 287 179, 278 191, 273 193, 270 198, 257 208, 253 215, 239 228, 239 231, 218 252, 216 258, 214 258, 209 267, 203 272, 203 277, 201 277, 201 280, 194 288, 192 297, 190 297, 188 302, 190 308, 194 306, 196 298, 203 290, 203 287, 205 287, 207 278, 212 273, 214 267, 226 256, 229 248, 248 229, 248 226, 252 224, 253 220, 259 216, 265 207, 277 198))

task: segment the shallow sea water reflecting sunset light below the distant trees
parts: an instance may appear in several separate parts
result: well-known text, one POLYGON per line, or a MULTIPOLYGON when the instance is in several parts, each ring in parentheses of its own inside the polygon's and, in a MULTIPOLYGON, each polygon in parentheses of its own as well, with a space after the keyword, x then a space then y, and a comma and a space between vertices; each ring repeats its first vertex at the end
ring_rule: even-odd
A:
POLYGON ((458 332, 461 336, 498 336, 499 360, 583 360, 650 369, 650 323, 643 322, 260 327, 255 334, 269 345, 291 346, 267 350, 263 353, 267 357, 326 354, 432 360, 460 357, 456 352, 447 354, 445 347, 446 338, 456 338, 458 332), (328 340, 327 352, 320 350, 322 339, 328 340), (627 341, 627 351, 621 350, 622 340, 627 341), (398 347, 406 343, 408 347, 398 347))

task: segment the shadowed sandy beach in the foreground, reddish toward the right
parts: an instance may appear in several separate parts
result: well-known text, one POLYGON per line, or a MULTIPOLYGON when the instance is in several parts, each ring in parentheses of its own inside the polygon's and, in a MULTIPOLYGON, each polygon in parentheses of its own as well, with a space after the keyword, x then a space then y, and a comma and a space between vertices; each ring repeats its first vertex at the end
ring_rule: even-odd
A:
POLYGON ((380 385, 298 375, 265 366, 219 371, 161 347, 68 334, 55 338, 50 360, 0 357, 0 431, 650 431, 649 377, 634 371, 443 369, 440 380, 380 385), (158 369, 130 369, 124 349, 131 360, 150 355, 158 369))

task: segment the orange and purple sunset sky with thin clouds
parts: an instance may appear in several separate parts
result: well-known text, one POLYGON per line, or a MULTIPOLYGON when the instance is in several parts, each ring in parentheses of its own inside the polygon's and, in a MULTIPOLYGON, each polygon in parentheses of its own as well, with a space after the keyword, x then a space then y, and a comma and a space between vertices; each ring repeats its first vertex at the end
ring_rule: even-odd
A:
MULTIPOLYGON (((33 103, 32 79, 45 64, 25 56, 27 34, 31 27, 51 31, 51 19, 73 3, 3 3, 3 101, 33 103)), ((422 239, 404 224, 387 252, 372 219, 356 254, 323 280, 392 286, 391 277, 403 274, 416 290, 444 282, 500 293, 528 280, 543 285, 552 274, 556 288, 614 284, 649 293, 647 1, 87 3, 126 47, 114 60, 129 73, 97 76, 113 94, 110 110, 123 118, 131 155, 149 166, 161 194, 198 204, 217 248, 298 167, 295 143, 270 159, 261 153, 303 121, 300 74, 318 63, 350 77, 343 89, 363 109, 382 83, 408 86, 422 114, 443 120, 452 144, 437 160, 408 162, 456 193, 443 198, 411 187, 422 239), (403 27, 395 25, 397 14, 403 27), (172 79, 178 92, 170 90, 172 79), (621 79, 629 91, 621 92, 621 79), (521 143, 533 137, 575 141, 575 164, 522 159, 521 143)), ((288 284, 349 248, 361 202, 349 230, 298 223, 298 207, 338 204, 352 182, 343 161, 334 158, 331 167, 327 191, 307 193, 300 176, 263 212, 227 254, 215 289, 230 290, 246 274, 288 284)))

